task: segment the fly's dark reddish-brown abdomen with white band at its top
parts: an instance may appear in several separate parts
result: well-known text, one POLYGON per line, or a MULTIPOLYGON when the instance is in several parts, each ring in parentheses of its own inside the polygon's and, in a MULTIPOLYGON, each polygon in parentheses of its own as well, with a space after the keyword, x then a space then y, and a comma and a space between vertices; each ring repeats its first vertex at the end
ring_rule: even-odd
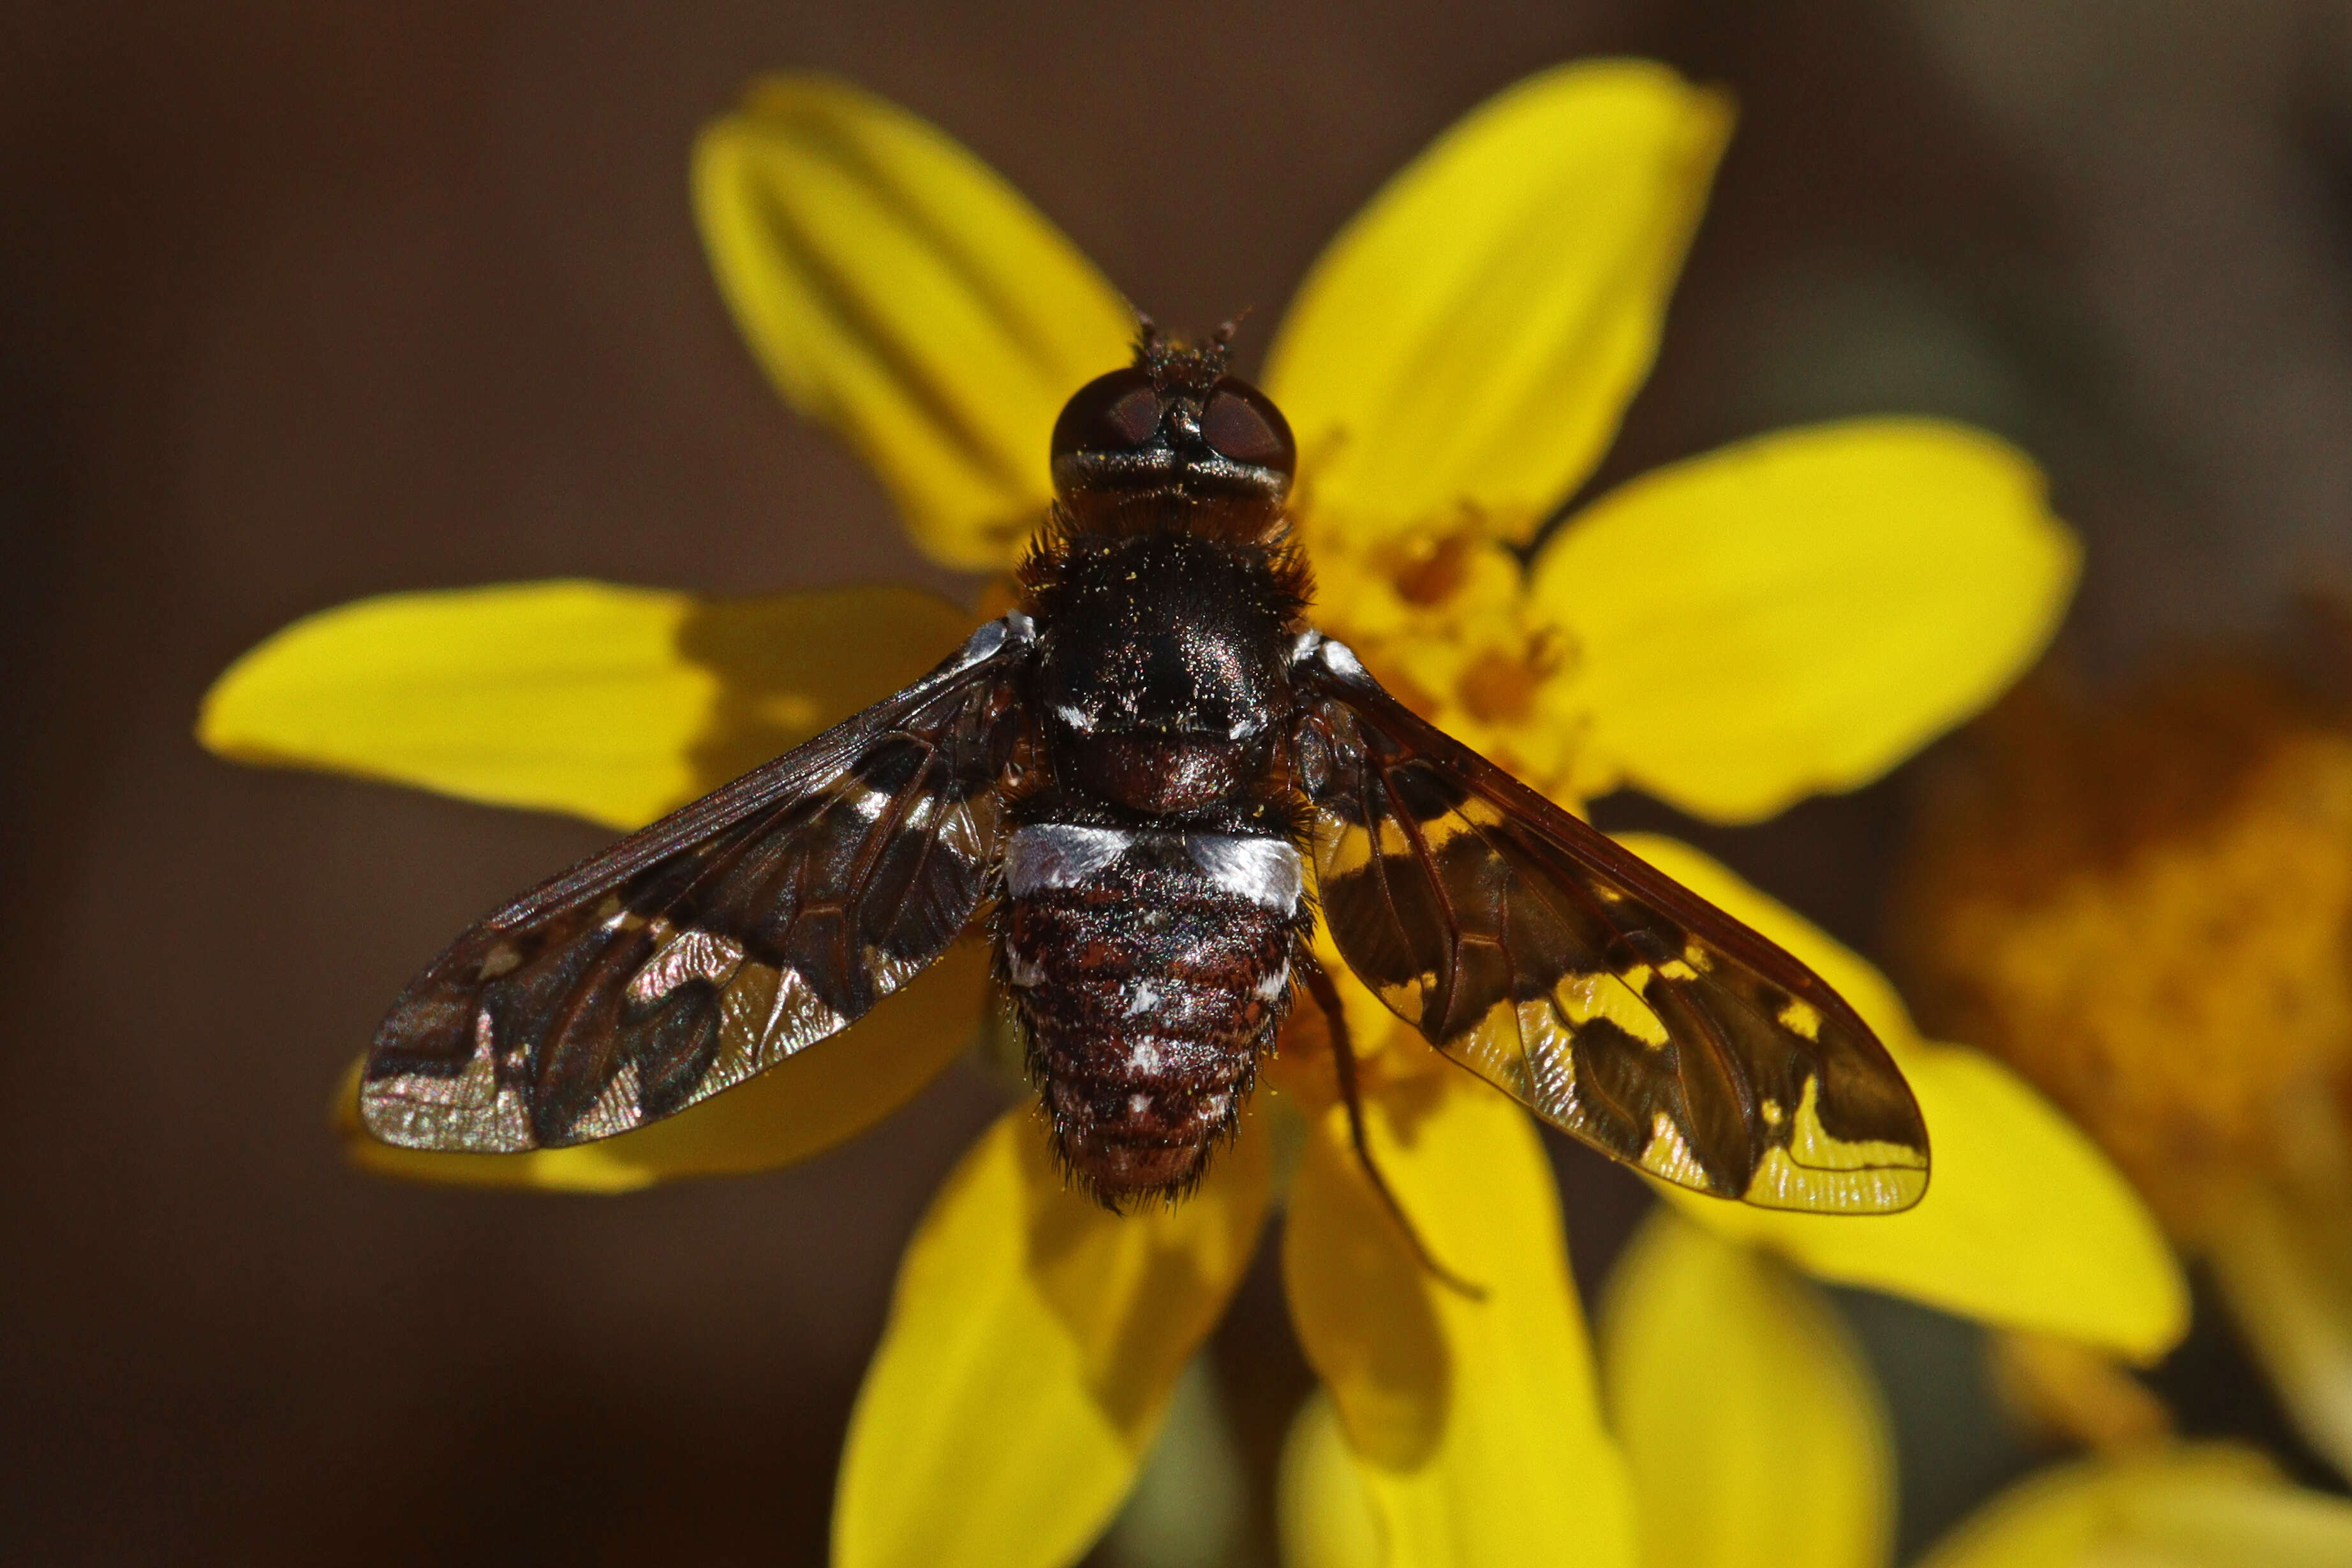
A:
POLYGON ((1070 1168, 1105 1204, 1181 1192, 1289 1011, 1303 938, 1284 839, 1021 827, 1004 978, 1070 1168))

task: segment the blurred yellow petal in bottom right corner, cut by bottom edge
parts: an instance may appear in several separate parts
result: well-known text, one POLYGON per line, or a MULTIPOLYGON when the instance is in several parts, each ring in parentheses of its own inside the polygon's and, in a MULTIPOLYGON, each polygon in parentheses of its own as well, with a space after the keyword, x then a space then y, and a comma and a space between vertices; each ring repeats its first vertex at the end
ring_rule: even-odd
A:
POLYGON ((2194 1446, 2046 1469, 1919 1568, 2340 1568, 2352 1500, 2288 1486, 2253 1453, 2194 1446))

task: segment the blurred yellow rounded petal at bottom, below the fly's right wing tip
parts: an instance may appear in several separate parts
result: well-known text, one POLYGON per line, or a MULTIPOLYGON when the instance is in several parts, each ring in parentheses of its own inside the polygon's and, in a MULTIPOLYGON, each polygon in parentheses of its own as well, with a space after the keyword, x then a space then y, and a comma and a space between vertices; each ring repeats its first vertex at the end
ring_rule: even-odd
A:
POLYGON ((1602 1382, 1646 1568, 1886 1561, 1886 1408, 1830 1305, 1771 1258, 1653 1211, 1609 1279, 1602 1382))

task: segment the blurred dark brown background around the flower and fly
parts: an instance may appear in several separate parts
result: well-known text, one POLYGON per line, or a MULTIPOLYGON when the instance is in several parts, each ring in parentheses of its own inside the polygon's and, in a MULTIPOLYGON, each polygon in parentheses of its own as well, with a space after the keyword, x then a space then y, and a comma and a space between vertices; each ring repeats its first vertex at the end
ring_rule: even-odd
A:
MULTIPOLYGON (((941 122, 1164 322, 1270 324, 1430 134, 1597 52, 1740 101, 1599 482, 1837 414, 1994 428, 2089 541, 2089 682, 2284 646, 2305 595, 2352 592, 2352 5, 0 0, 0 1549, 823 1561, 898 1248, 997 1086, 957 1070, 804 1168, 630 1199, 355 1175, 327 1095, 386 999, 604 835, 226 766, 198 696, 397 588, 969 592, 708 280, 687 146, 760 71, 941 122)), ((1910 790, 1743 832, 1599 816, 1882 954, 1910 790)), ((1590 1288, 1646 1199, 1559 1157, 1590 1288)), ((1917 1544, 2030 1448, 1973 1331, 1844 1300, 1917 1544)), ((1268 1561, 1308 1373, 1265 1260, 1214 1349, 1176 1486, 1230 1537, 1188 1559, 1136 1516, 1098 1561, 1268 1561)), ((2227 1328, 2157 1382, 2340 1486, 2227 1328)))

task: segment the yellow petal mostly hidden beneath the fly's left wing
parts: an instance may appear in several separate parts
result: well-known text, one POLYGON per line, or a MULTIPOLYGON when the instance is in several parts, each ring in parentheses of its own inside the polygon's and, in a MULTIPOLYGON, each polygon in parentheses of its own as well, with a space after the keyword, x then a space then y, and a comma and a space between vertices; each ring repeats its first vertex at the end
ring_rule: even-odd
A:
POLYGON ((360 1126, 360 1067, 334 1100, 350 1161, 379 1175, 466 1187, 633 1192, 682 1175, 771 1171, 849 1143, 971 1046, 988 987, 988 945, 957 943, 847 1034, 816 1041, 727 1093, 619 1138, 529 1154, 428 1154, 376 1143, 360 1126))

